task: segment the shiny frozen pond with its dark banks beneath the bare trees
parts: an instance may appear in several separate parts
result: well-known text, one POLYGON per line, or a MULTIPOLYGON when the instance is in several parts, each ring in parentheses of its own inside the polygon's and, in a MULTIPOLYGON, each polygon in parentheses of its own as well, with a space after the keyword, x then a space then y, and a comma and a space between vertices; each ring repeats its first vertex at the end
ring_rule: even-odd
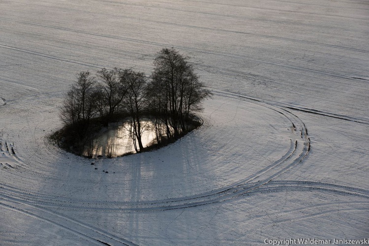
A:
POLYGON ((92 127, 93 132, 89 132, 91 136, 86 143, 82 152, 79 152, 75 146, 78 145, 78 139, 73 138, 73 132, 67 127, 55 132, 49 136, 49 139, 57 144, 63 150, 81 155, 88 158, 114 158, 122 157, 124 155, 136 154, 139 152, 147 152, 167 146, 168 144, 176 142, 187 133, 200 127, 202 120, 197 116, 192 116, 186 124, 186 130, 180 132, 175 139, 167 138, 165 136, 165 124, 159 124, 161 138, 158 141, 157 131, 158 125, 154 124, 154 120, 143 118, 141 123, 141 141, 143 149, 140 150, 137 145, 137 139, 134 134, 134 127, 132 122, 123 119, 122 121, 109 123, 107 126, 97 124, 99 121, 95 119, 95 125, 92 127), (138 152, 136 152, 136 149, 138 152))

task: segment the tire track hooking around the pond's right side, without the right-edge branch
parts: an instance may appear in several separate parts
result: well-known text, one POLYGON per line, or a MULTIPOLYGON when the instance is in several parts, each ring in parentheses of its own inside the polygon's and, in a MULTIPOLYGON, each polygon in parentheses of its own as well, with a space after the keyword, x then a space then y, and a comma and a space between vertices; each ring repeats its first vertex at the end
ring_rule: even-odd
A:
MULTIPOLYGON (((278 108, 273 105, 268 105, 264 102, 257 102, 254 100, 250 100, 247 98, 239 97, 238 95, 230 95, 230 94, 219 94, 223 97, 230 97, 230 98, 236 98, 240 100, 247 100, 252 103, 256 103, 259 105, 262 105, 266 108, 269 108, 273 111, 275 111, 278 114, 283 115, 286 117, 291 125, 290 125, 290 133, 294 136, 293 139, 290 140, 290 148, 287 151, 286 154, 284 154, 279 160, 275 161, 274 163, 270 164, 269 166, 263 168, 262 170, 246 177, 243 180, 240 180, 239 182, 236 182, 234 184, 230 184, 228 186, 224 186, 222 188, 212 190, 209 192, 205 192, 202 194, 196 194, 193 196, 187 196, 187 197, 181 197, 181 198, 171 198, 171 199, 164 199, 164 200, 154 200, 154 201, 143 201, 143 202, 100 202, 100 201, 76 201, 76 200, 69 200, 65 198, 62 201, 53 201, 53 198, 50 198, 48 202, 44 201, 44 206, 61 206, 63 207, 63 204, 65 203, 82 203, 82 204, 103 204, 104 206, 118 206, 120 207, 119 210, 129 210, 129 211, 150 211, 150 210, 163 210, 165 207, 166 209, 174 209, 174 208, 183 208, 188 206, 199 206, 204 205, 208 203, 213 203, 216 201, 223 201, 230 199, 231 197, 234 197, 235 194, 239 194, 246 192, 247 190, 255 189, 259 186, 262 186, 272 179, 276 178, 280 174, 284 173, 285 171, 291 169, 293 166, 299 164, 308 154, 310 149, 310 140, 307 137, 307 130, 306 126, 303 122, 300 121, 298 117, 293 115, 292 113, 278 108), (258 180, 256 183, 255 180, 258 180), (246 190, 245 190, 246 188, 246 190), (51 201, 50 201, 51 200, 51 201), (166 204, 165 206, 163 204, 166 204), (190 205, 189 205, 190 204, 190 205)), ((11 195, 11 193, 14 193, 14 190, 10 189, 11 187, 1 187, 2 192, 7 193, 8 195, 11 195), (10 192, 10 193, 9 193, 10 192)), ((17 192, 15 192, 17 193, 17 192)), ((18 192, 19 193, 19 192, 18 192)), ((25 196, 26 192, 23 192, 23 196, 25 196)), ((33 197, 37 197, 36 194, 33 195, 33 197)), ((31 197, 28 196, 28 199, 31 200, 31 197)), ((34 199, 34 198, 32 198, 34 199)), ((35 199, 37 200, 37 199, 35 199)), ((35 201, 34 203, 37 204, 41 201, 35 201)), ((42 202, 41 202, 42 204, 42 202)), ((74 207, 78 207, 76 205, 73 205, 74 207)), ((98 205, 101 207, 101 205, 98 205)), ((80 206, 81 207, 81 206, 80 206)), ((87 209, 87 207, 84 207, 84 209, 87 209)))

